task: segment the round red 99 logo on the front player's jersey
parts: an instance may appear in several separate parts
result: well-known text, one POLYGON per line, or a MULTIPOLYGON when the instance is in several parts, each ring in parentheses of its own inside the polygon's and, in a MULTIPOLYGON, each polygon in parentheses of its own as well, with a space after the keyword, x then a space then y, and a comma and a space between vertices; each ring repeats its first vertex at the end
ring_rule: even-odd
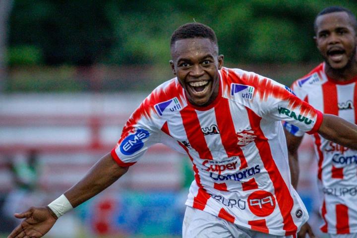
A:
POLYGON ((268 191, 258 190, 248 196, 248 207, 258 217, 266 217, 275 209, 275 198, 268 191))

